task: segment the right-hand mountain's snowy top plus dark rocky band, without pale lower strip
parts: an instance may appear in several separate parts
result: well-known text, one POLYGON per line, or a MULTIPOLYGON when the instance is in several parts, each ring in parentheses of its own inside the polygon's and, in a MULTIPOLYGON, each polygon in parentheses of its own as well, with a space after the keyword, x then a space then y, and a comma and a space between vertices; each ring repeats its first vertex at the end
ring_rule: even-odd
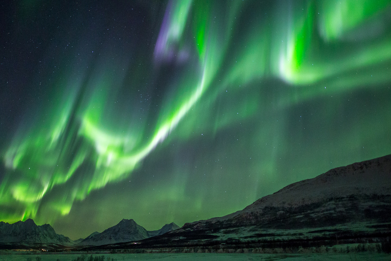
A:
POLYGON ((261 225, 303 227, 391 217, 391 155, 295 182, 230 215, 184 228, 261 225), (282 222, 283 221, 283 222, 282 222))

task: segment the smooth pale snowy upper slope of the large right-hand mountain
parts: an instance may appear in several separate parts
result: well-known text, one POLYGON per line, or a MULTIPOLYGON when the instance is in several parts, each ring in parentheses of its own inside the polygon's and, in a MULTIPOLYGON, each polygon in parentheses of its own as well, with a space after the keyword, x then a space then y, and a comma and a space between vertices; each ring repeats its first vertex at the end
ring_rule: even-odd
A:
POLYGON ((244 207, 241 211, 222 217, 186 223, 185 226, 208 220, 211 222, 225 221, 235 216, 243 215, 244 213, 259 211, 263 207, 295 207, 303 204, 316 203, 324 200, 324 198, 372 194, 391 194, 391 154, 333 168, 314 178, 304 179, 287 185, 273 194, 256 200, 254 203, 244 207), (354 176, 354 179, 347 181, 346 178, 349 176, 354 176), (366 176, 375 176, 376 179, 369 179, 366 176), (331 182, 337 185, 328 187, 327 184, 331 182), (312 193, 309 193, 309 187, 313 187, 312 193), (318 191, 314 192, 314 187, 318 191))

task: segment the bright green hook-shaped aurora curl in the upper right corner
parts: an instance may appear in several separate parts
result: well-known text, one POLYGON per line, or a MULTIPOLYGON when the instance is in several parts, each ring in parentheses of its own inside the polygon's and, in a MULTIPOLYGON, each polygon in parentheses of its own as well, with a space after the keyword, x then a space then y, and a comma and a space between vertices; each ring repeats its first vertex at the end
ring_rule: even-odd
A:
MULTIPOLYGON (((391 58, 389 36, 378 39, 377 35, 373 35, 374 30, 380 34, 385 28, 379 28, 381 27, 379 24, 372 24, 372 21, 368 21, 376 19, 376 15, 382 13, 381 11, 386 7, 389 9, 388 1, 381 1, 379 5, 374 4, 373 1, 362 1, 360 4, 357 4, 356 1, 321 2, 320 6, 321 9, 325 9, 325 14, 316 13, 313 6, 309 4, 308 8, 302 8, 303 11, 298 12, 300 16, 294 19, 293 28, 289 28, 287 32, 288 41, 280 49, 278 69, 277 66, 274 68, 276 73, 280 74, 284 80, 293 84, 312 84, 335 75, 341 75, 344 79, 339 78, 337 80, 340 82, 341 87, 354 87, 359 82, 363 83, 363 79, 358 80, 357 75, 349 75, 350 72, 365 66, 388 61, 391 58), (359 10, 356 10, 357 8, 359 10), (336 22, 334 15, 336 10, 343 17, 343 21, 336 22), (354 14, 358 15, 355 16, 354 14), (320 43, 321 39, 318 38, 315 29, 318 24, 314 24, 314 16, 322 17, 327 21, 323 24, 327 24, 332 29, 342 30, 341 34, 345 35, 346 31, 358 27, 356 32, 358 39, 360 39, 361 35, 366 35, 374 40, 369 41, 365 47, 353 47, 351 43, 346 45, 343 43, 341 48, 338 49, 334 48, 334 43, 331 43, 329 46, 326 43, 320 43), (367 23, 369 25, 364 26, 367 23), (346 28, 344 28, 345 25, 346 28), (314 40, 318 43, 314 44, 314 40), (319 45, 323 46, 324 54, 319 53, 319 45), (330 66, 331 63, 332 66, 330 66), (347 76, 342 75, 343 73, 347 73, 347 76)), ((337 16, 340 17, 339 15, 337 16)), ((325 31, 319 25, 317 28, 320 34, 325 31)), ((337 35, 333 37, 337 37, 337 35)), ((381 76, 380 82, 390 79, 385 75, 387 74, 384 73, 381 76)), ((373 78, 373 76, 368 74, 364 83, 375 83, 378 81, 378 77, 373 78)))

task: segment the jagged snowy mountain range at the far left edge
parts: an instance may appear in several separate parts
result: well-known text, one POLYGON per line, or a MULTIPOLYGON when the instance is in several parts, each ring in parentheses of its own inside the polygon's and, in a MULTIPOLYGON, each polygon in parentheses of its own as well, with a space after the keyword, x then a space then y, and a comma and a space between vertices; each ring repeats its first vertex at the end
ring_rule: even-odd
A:
POLYGON ((68 237, 55 233, 49 224, 38 226, 32 219, 13 224, 0 222, 0 243, 14 242, 50 243, 64 246, 73 244, 68 237))

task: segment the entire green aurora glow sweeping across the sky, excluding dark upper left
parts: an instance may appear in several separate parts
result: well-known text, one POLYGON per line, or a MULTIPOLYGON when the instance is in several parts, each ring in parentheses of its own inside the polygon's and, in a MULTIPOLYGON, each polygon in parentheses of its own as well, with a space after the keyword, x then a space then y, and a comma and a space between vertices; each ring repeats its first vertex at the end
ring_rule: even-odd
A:
MULTIPOLYGON (((48 87, 53 100, 3 154, 0 219, 65 220, 94 202, 90 212, 192 221, 345 163, 331 163, 338 158, 389 152, 379 149, 389 139, 378 142, 389 137, 389 95, 371 105, 360 96, 384 94, 391 81, 388 1, 249 2, 172 1, 153 54, 135 45, 144 56, 129 62, 105 46, 94 64, 64 69, 71 80, 48 87), (156 76, 159 66, 175 73, 156 76)), ((104 227, 108 214, 98 216, 104 227)))

